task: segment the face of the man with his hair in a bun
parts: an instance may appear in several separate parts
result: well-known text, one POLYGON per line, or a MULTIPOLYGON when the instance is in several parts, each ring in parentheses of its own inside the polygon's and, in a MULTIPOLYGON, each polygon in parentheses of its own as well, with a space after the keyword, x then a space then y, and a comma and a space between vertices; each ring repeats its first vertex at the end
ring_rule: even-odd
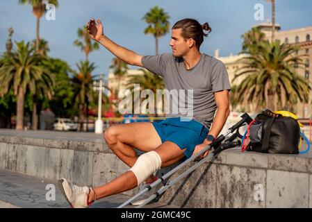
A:
POLYGON ((172 34, 171 34, 171 40, 169 45, 172 48, 172 54, 173 56, 176 57, 182 57, 188 51, 190 51, 190 40, 184 40, 184 38, 181 35, 182 33, 182 28, 174 28, 172 29, 172 34))

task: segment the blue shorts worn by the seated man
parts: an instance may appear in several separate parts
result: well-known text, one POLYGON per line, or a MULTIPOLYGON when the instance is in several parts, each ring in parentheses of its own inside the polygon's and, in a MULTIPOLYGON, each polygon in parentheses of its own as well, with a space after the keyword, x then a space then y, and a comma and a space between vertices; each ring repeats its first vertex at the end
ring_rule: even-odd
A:
POLYGON ((192 156, 195 146, 202 144, 206 135, 207 128, 195 121, 181 121, 180 117, 168 118, 161 122, 152 122, 161 142, 170 141, 178 145, 179 148, 184 149, 184 155, 187 158, 192 156))

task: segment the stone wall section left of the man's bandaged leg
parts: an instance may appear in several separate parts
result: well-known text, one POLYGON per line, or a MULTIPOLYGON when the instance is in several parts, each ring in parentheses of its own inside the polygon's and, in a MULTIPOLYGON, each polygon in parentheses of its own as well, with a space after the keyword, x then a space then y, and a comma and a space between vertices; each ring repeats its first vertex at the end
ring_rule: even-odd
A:
POLYGON ((129 169, 103 143, 9 136, 0 136, 0 168, 81 186, 99 186, 129 169))

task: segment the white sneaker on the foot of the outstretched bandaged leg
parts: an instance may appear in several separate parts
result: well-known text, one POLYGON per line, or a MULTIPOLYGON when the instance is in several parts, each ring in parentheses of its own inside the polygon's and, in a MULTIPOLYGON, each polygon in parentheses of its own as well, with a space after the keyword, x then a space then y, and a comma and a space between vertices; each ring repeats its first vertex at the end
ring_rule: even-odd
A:
POLYGON ((85 208, 92 204, 88 203, 89 187, 79 187, 76 185, 70 187, 65 178, 58 180, 58 186, 72 208, 85 208))

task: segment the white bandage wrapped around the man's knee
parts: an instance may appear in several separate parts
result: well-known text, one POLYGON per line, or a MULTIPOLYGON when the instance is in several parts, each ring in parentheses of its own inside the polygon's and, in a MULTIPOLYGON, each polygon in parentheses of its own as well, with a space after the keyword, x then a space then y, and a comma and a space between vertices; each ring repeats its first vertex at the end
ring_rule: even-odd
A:
POLYGON ((136 175, 138 185, 140 185, 158 169, 161 169, 161 157, 155 151, 150 151, 140 155, 129 171, 132 171, 136 175))

